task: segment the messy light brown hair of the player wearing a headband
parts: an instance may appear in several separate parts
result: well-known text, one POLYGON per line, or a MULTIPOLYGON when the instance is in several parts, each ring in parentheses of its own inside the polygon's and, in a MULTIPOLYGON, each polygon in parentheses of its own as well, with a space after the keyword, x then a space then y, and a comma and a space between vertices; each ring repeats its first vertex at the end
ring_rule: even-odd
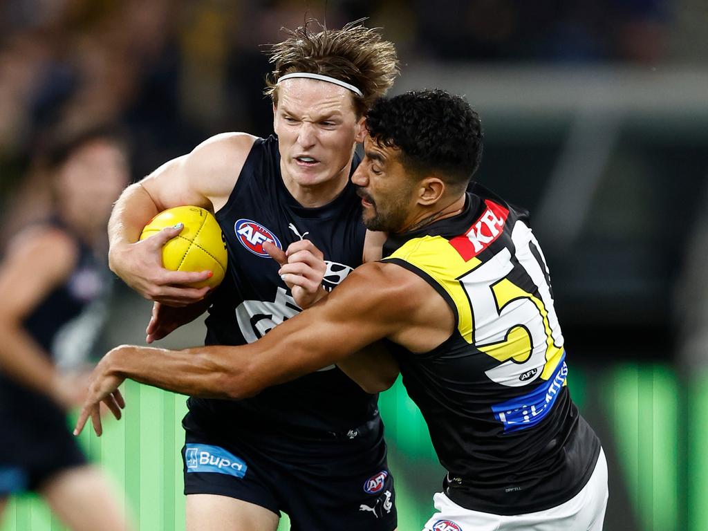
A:
POLYGON ((396 47, 383 40, 379 28, 365 28, 365 18, 345 25, 341 30, 329 30, 314 18, 295 30, 283 28, 289 38, 270 45, 273 72, 265 77, 265 94, 278 105, 278 79, 293 72, 321 74, 357 87, 363 94, 352 93, 355 112, 360 117, 374 101, 383 96, 399 74, 396 47), (309 26, 317 25, 314 32, 309 26))

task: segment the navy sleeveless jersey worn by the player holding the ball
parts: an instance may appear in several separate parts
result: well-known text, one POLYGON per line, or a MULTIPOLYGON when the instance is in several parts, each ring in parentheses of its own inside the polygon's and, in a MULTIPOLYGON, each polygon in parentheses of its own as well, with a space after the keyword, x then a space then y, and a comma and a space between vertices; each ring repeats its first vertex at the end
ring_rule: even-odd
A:
MULTIPOLYGON (((358 158, 352 165, 352 171, 358 158)), ((362 263, 365 227, 361 201, 349 182, 328 205, 305 208, 280 175, 278 139, 257 139, 229 200, 216 213, 229 252, 226 278, 213 295, 207 345, 243 345, 300 312, 280 279, 280 266, 263 251, 309 239, 324 253, 324 287, 331 290, 362 263)), ((335 338, 321 338, 333 341, 335 338)), ((367 394, 337 367, 265 389, 241 401, 190 399, 190 412, 223 422, 285 428, 290 433, 346 433, 377 416, 377 396, 367 394), (300 432, 298 432, 300 428, 300 432), (304 428, 304 430, 302 429, 304 428)))

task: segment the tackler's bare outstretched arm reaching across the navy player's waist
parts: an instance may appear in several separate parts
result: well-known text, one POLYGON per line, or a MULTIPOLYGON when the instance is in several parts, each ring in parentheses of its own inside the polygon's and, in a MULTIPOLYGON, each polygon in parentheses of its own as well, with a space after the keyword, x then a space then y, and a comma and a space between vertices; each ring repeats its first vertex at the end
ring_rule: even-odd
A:
POLYGON ((426 352, 445 341, 452 326, 447 303, 417 275, 394 264, 365 264, 328 297, 256 343, 111 350, 93 373, 77 431, 91 416, 100 433, 98 404, 112 401, 125 378, 191 396, 242 399, 337 363, 382 338, 426 352))

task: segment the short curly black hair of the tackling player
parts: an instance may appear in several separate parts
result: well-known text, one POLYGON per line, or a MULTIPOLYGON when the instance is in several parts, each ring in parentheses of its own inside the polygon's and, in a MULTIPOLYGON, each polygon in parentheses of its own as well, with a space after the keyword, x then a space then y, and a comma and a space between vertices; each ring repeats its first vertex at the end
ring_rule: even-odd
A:
POLYGON ((432 89, 379 98, 366 122, 377 144, 401 149, 401 164, 415 176, 440 173, 462 190, 479 167, 481 122, 461 96, 432 89))

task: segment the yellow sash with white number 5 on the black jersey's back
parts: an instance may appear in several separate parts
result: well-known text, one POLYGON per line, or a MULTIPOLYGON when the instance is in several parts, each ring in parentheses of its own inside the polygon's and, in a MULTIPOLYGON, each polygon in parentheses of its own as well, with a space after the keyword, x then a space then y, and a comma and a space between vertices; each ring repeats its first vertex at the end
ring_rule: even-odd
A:
POLYGON ((500 362, 486 372, 490 379, 520 386, 552 377, 564 349, 554 345, 543 300, 506 278, 514 267, 508 248, 483 264, 476 257, 465 261, 442 236, 422 236, 407 241, 389 258, 427 273, 450 295, 460 336, 500 362), (474 323, 475 317, 479 323, 474 323))

